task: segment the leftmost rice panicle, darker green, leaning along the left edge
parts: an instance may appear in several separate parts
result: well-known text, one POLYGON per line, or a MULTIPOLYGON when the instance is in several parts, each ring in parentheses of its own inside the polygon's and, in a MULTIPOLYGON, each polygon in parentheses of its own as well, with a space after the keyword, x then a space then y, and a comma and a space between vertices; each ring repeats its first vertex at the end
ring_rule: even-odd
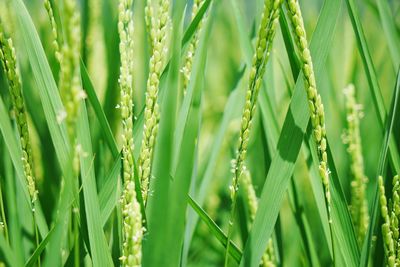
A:
POLYGON ((17 58, 13 42, 6 39, 3 34, 2 26, 0 25, 0 59, 3 64, 3 69, 6 73, 10 95, 15 115, 15 120, 18 126, 19 140, 22 148, 22 164, 24 174, 28 186, 31 201, 34 202, 37 198, 35 188, 35 179, 33 174, 33 154, 29 139, 28 123, 26 119, 24 97, 22 95, 21 79, 17 70, 17 58))

